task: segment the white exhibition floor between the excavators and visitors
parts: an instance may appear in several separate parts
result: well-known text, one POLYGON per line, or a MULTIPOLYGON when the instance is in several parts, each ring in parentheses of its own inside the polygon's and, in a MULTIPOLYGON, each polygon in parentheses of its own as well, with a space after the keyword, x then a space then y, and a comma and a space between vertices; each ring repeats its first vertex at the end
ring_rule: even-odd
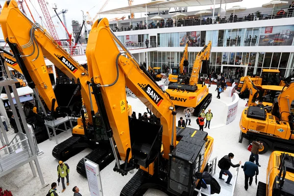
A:
MULTIPOLYGON (((238 106, 238 114, 235 121, 228 125, 224 125, 223 118, 226 118, 226 113, 223 111, 224 105, 230 102, 232 99, 227 97, 227 93, 224 92, 221 94, 221 99, 217 99, 217 92, 215 91, 216 86, 212 85, 209 88, 210 93, 213 94, 213 100, 209 105, 211 111, 214 115, 211 121, 210 129, 204 129, 207 131, 210 136, 214 138, 214 150, 211 158, 219 157, 232 152, 235 154, 232 162, 234 164, 238 163, 240 160, 242 164, 248 160, 250 152, 247 151, 247 141, 244 140, 243 144, 238 143, 239 138, 239 120, 241 116, 241 112, 245 108, 245 100, 240 99, 238 106)), ((137 113, 144 113, 146 111, 146 106, 140 102, 140 100, 128 97, 128 103, 132 105, 133 111, 137 113)), ((178 108, 177 119, 179 117, 184 117, 183 114, 184 108, 178 108)), ((196 117, 192 117, 191 127, 198 128, 196 124, 196 117)), ((11 135, 13 135, 12 131, 9 131, 11 135)), ((58 140, 59 142, 69 138, 71 133, 61 133, 59 134, 58 140)), ((11 136, 10 136, 11 137, 11 136)), ((49 186, 52 182, 57 181, 57 172, 56 168, 58 165, 58 161, 52 157, 51 151, 55 146, 55 140, 45 141, 39 145, 39 148, 44 151, 44 154, 39 157, 39 162, 41 165, 41 169, 43 172, 44 179, 46 181, 45 186, 41 185, 38 177, 33 177, 32 172, 30 170, 29 164, 19 168, 18 170, 11 172, 0 178, 0 187, 3 189, 8 189, 12 191, 13 196, 45 196, 49 191, 49 186)), ((88 183, 85 178, 80 176, 75 167, 78 161, 86 156, 91 150, 85 149, 79 154, 75 155, 71 159, 69 159, 66 163, 69 164, 71 172, 70 172, 70 186, 67 187, 64 193, 61 193, 62 186, 60 184, 57 187, 59 196, 73 196, 72 188, 74 186, 78 186, 80 189, 80 193, 83 196, 89 196, 89 188, 88 183)), ((270 151, 266 154, 260 155, 260 174, 258 175, 258 180, 265 182, 266 181, 266 169, 269 160, 270 151)), ((113 172, 113 167, 115 163, 112 162, 105 169, 101 171, 101 179, 102 179, 102 188, 104 196, 119 196, 123 186, 128 182, 128 180, 132 177, 133 174, 127 174, 126 176, 122 176, 117 172, 113 172)), ((231 171, 235 171, 232 170, 231 171)), ((217 170, 220 172, 220 170, 217 170)), ((234 173, 232 173, 234 175, 234 173)), ((228 185, 229 186, 229 185, 228 185)), ((247 195, 255 195, 257 186, 255 183, 249 187, 248 191, 244 189, 244 172, 240 168, 239 176, 236 184, 235 196, 247 196, 247 195)), ((158 190, 148 190, 145 196, 166 196, 166 194, 158 191, 158 190)))

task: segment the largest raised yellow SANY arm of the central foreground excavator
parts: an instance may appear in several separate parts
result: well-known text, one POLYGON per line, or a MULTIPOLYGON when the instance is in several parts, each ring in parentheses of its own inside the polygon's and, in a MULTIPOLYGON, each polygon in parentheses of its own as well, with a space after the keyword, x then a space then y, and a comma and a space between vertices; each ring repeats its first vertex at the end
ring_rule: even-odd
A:
MULTIPOLYGON (((108 118, 103 121, 108 123, 105 129, 110 138, 113 136, 120 157, 126 158, 127 161, 128 152, 132 146, 128 131, 131 128, 129 128, 128 115, 123 106, 126 103, 125 86, 127 86, 157 118, 160 118, 163 127, 164 158, 168 159, 171 146, 175 146, 174 105, 146 69, 143 66, 140 67, 139 63, 110 31, 107 19, 98 20, 93 24, 86 55, 92 87, 100 92, 96 95, 101 95, 101 98, 95 96, 96 101, 104 103, 104 106, 98 105, 100 112, 103 112, 101 108, 105 107, 105 115, 101 114, 101 116, 108 118), (125 52, 119 51, 115 41, 125 52)), ((142 136, 148 137, 148 131, 146 134, 142 136)), ((133 151, 132 153, 134 153, 133 151)))

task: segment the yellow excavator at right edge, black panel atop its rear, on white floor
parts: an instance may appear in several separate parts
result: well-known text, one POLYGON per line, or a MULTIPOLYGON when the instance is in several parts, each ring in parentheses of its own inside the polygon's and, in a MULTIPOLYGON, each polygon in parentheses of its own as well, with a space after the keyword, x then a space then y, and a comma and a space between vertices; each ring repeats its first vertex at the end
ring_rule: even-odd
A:
POLYGON ((249 142, 260 138, 263 149, 269 148, 294 151, 294 81, 286 84, 278 98, 275 98, 271 108, 249 106, 244 109, 240 119, 240 138, 249 142))

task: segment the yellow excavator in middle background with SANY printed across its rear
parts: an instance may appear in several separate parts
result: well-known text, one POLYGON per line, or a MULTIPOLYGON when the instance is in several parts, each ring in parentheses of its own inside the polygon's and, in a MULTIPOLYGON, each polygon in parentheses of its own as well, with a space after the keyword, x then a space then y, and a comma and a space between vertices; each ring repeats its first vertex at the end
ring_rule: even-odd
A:
POLYGON ((207 86, 203 85, 202 82, 197 84, 201 66, 208 63, 210 51, 211 42, 198 52, 192 67, 192 73, 185 75, 184 78, 178 77, 179 81, 169 84, 166 90, 174 105, 195 108, 194 116, 198 116, 202 109, 207 108, 212 99, 207 86))

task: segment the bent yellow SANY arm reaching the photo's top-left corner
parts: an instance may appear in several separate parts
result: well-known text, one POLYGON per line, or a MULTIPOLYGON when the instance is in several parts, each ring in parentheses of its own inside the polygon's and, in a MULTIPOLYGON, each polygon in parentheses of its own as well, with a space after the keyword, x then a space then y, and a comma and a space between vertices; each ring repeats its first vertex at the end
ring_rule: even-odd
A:
MULTIPOLYGON (((0 16, 4 39, 12 49, 17 62, 31 88, 35 85, 40 96, 49 108, 55 98, 49 74, 47 73, 46 56, 58 69, 69 78, 74 78, 81 85, 81 94, 88 111, 89 121, 98 112, 98 107, 91 107, 87 81, 88 72, 78 64, 70 54, 61 48, 49 33, 39 24, 32 23, 17 7, 15 0, 6 1, 0 16), (30 79, 32 78, 32 79, 30 79), (33 82, 34 81, 34 82, 33 82), (90 113, 90 111, 93 111, 90 113)), ((56 98, 55 98, 56 99, 56 98)), ((55 104, 54 109, 57 107, 55 104)))

